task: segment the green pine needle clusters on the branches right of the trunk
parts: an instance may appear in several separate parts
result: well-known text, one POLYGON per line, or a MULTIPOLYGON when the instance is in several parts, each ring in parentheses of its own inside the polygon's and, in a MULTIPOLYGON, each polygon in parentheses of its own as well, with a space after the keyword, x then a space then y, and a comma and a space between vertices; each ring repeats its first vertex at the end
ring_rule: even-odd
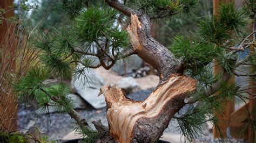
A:
MULTIPOLYGON (((198 135, 204 134, 206 121, 214 123, 217 131, 221 133, 223 129, 218 126, 220 120, 215 115, 223 111, 223 101, 228 101, 234 96, 241 98, 240 87, 227 82, 220 83, 218 96, 205 95, 205 90, 219 81, 223 74, 222 71, 218 75, 213 75, 210 66, 213 59, 218 61, 225 72, 233 75, 237 55, 231 52, 230 47, 239 41, 236 39, 244 34, 251 22, 245 11, 248 9, 236 9, 234 3, 221 4, 218 10, 218 16, 212 15, 201 20, 194 37, 186 38, 178 35, 173 38, 172 45, 169 47, 176 58, 186 63, 185 74, 199 81, 197 92, 193 95, 193 99, 198 102, 186 113, 175 118, 181 133, 188 141, 193 141, 198 135)), ((250 60, 252 63, 253 55, 250 60)), ((247 127, 252 123, 253 121, 247 122, 247 127)), ((223 137, 222 134, 220 135, 223 137)))

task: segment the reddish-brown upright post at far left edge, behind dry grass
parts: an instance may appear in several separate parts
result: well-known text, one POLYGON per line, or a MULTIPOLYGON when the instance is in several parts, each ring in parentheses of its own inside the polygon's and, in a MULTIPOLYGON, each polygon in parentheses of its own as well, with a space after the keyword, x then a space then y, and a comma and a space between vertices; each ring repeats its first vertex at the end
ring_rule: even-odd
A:
MULTIPOLYGON (((0 0, 0 9, 5 9, 5 11, 9 10, 9 12, 6 12, 3 15, 4 18, 14 17, 14 10, 10 10, 9 8, 9 5, 12 5, 12 2, 12 0, 0 0)), ((15 48, 12 44, 12 42, 14 42, 14 29, 14 24, 6 22, 6 20, 3 20, 2 24, 0 24, 0 48, 10 48, 8 49, 8 51, 10 51, 9 53, 15 53, 15 48)), ((4 61, 2 58, 0 58, 0 64, 2 64, 1 67, 4 67, 3 65, 8 63, 9 69, 7 70, 8 72, 13 73, 15 71, 15 62, 4 61)), ((3 69, 0 70, 0 82, 4 80, 4 72, 3 69)), ((8 84, 8 82, 5 84, 8 84)), ((4 86, 5 85, 2 83, 2 87, 4 86)), ((0 89, 0 131, 10 132, 14 130, 17 130, 16 97, 10 94, 10 89, 7 89, 7 91, 0 89)))

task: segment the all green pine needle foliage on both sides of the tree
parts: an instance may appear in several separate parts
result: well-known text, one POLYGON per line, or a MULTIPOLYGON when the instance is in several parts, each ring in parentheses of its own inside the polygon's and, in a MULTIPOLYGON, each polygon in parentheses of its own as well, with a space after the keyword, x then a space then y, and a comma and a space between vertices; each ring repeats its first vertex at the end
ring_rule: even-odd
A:
MULTIPOLYGON (((171 17, 175 13, 193 13, 198 1, 130 0, 124 1, 124 4, 147 13, 153 19, 162 15, 171 17)), ((181 133, 188 141, 203 134, 207 121, 212 121, 220 131, 215 114, 223 109, 221 102, 239 96, 239 87, 226 82, 218 88, 219 96, 205 95, 205 90, 217 83, 224 71, 233 76, 237 56, 231 49, 238 48, 233 45, 245 34, 244 29, 250 23, 249 15, 254 10, 250 8, 251 1, 245 1, 245 5, 245 9, 236 9, 233 3, 221 4, 219 15, 201 20, 194 37, 177 35, 169 46, 172 54, 185 63, 184 74, 199 81, 197 91, 193 94, 193 99, 198 102, 191 105, 183 115, 175 117, 181 133), (224 69, 218 75, 212 73, 213 59, 224 69)), ((59 9, 65 11, 68 22, 54 31, 35 35, 33 40, 33 47, 41 51, 39 59, 43 66, 31 69, 15 84, 19 97, 26 101, 36 100, 41 112, 48 111, 49 106, 59 112, 73 110, 74 101, 67 96, 69 90, 66 84, 60 83, 53 87, 44 84, 50 76, 57 75, 63 80, 64 77, 73 76, 77 79, 84 75, 87 80, 90 77, 84 71, 97 65, 86 55, 95 56, 100 64, 106 61, 108 65, 110 61, 106 59, 112 62, 122 59, 122 52, 130 46, 127 32, 120 28, 122 22, 127 24, 130 19, 122 13, 86 0, 63 0, 59 3, 59 9)), ((250 59, 252 64, 255 64, 255 57, 254 54, 250 59)), ((254 124, 255 121, 250 123, 254 124)), ((97 132, 79 123, 75 128, 87 142, 93 142, 98 137, 97 132)))

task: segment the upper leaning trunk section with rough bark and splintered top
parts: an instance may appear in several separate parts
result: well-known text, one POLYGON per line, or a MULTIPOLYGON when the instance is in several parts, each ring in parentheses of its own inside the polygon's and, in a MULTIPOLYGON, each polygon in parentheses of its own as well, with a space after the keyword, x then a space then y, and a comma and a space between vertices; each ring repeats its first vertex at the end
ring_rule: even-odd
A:
POLYGON ((181 61, 174 58, 165 46, 151 36, 150 17, 139 18, 131 15, 131 25, 127 28, 134 51, 144 61, 156 68, 161 81, 167 80, 172 73, 182 73, 181 61))

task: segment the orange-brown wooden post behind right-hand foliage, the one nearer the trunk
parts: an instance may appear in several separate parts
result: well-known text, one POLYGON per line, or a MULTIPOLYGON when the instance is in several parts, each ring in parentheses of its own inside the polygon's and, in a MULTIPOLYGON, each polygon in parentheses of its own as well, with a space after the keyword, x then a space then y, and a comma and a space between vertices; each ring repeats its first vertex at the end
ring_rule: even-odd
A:
MULTIPOLYGON (((218 12, 218 6, 220 3, 228 3, 228 2, 232 2, 231 0, 213 0, 213 15, 219 15, 218 12)), ((218 65, 217 61, 214 60, 214 74, 218 75, 221 72, 221 66, 218 65)), ((230 78, 230 81, 228 81, 228 84, 232 84, 234 83, 234 77, 230 78)), ((216 95, 218 95, 218 93, 216 93, 216 95)), ((220 129, 221 129, 221 133, 219 133, 216 130, 216 127, 214 126, 213 128, 213 136, 214 138, 220 138, 220 134, 223 135, 224 138, 227 137, 227 128, 228 123, 230 123, 231 120, 231 113, 234 112, 234 99, 230 99, 230 101, 227 102, 223 102, 222 103, 224 106, 224 111, 223 113, 218 115, 218 119, 221 120, 221 122, 219 123, 220 129), (225 123, 223 122, 225 121, 225 123)))

